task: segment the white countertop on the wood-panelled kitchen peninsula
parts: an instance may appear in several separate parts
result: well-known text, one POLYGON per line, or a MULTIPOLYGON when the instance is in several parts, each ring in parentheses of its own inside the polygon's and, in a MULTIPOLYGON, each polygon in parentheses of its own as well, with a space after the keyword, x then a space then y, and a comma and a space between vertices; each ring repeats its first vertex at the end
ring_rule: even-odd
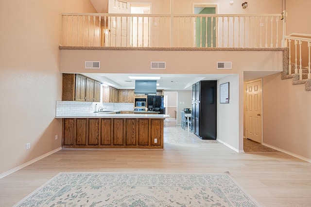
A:
MULTIPOLYGON (((117 111, 113 111, 117 112, 117 111)), ((55 118, 153 118, 153 119, 165 119, 171 117, 167 114, 138 114, 138 113, 109 113, 106 111, 101 112, 82 112, 82 113, 71 113, 65 115, 57 115, 55 118)))

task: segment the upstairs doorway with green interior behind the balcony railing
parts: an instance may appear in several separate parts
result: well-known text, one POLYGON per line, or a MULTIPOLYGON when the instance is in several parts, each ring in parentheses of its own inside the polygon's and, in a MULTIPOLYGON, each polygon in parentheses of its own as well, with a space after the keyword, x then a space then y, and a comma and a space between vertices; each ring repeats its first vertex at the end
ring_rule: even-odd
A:
MULTIPOLYGON (((217 5, 193 5, 194 15, 217 14, 217 5)), ((194 23, 195 47, 215 48, 216 47, 216 17, 197 16, 194 23)))

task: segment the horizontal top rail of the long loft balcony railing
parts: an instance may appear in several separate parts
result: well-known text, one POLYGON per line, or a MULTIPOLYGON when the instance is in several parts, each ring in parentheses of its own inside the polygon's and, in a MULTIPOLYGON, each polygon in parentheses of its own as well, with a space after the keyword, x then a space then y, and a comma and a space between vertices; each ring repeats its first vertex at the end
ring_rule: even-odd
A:
MULTIPOLYGON (((170 17, 171 15, 167 14, 111 14, 111 13, 62 13, 62 16, 142 16, 142 17, 150 17, 150 16, 163 16, 170 17)), ((241 16, 281 16, 280 14, 246 14, 246 15, 237 15, 237 14, 201 14, 201 15, 173 15, 174 17, 197 17, 197 16, 208 16, 208 17, 241 17, 241 16)))

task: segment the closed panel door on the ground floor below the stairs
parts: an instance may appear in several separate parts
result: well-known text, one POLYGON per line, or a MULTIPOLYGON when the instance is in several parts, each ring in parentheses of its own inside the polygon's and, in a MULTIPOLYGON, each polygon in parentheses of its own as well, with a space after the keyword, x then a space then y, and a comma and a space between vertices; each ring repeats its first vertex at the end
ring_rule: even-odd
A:
POLYGON ((246 84, 246 117, 246 138, 261 143, 261 80, 246 84))

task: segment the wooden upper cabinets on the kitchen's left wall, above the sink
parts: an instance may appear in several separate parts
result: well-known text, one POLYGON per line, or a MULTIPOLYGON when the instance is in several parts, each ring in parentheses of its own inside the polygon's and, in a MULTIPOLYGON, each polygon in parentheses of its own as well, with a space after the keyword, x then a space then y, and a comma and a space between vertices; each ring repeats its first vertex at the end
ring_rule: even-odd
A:
POLYGON ((80 74, 63 74, 63 101, 99 102, 101 83, 80 74))

